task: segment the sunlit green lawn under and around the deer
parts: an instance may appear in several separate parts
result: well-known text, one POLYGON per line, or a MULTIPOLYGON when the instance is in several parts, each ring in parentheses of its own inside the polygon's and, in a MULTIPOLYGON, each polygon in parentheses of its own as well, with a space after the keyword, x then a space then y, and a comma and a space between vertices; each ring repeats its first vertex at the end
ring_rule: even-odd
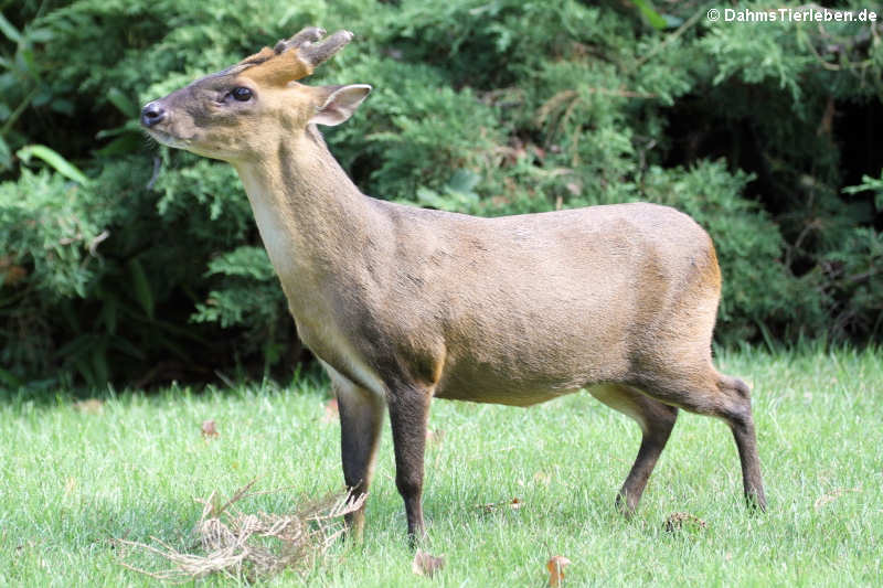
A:
MULTIPOLYGON (((267 584, 541 587, 560 554, 573 562, 565 586, 883 585, 883 352, 743 351, 717 363, 754 386, 765 515, 743 505, 723 423, 682 413, 626 522, 613 499, 639 440, 628 418, 587 394, 529 409, 436 402, 430 428, 445 435, 427 451, 424 509, 426 549, 447 559, 440 575, 411 570, 387 430, 364 543, 334 545, 305 580, 267 584), (855 491, 817 504, 845 489, 855 491), (513 498, 524 506, 477 507, 513 498), (664 532, 678 511, 708 527, 664 532)), ((255 477, 260 489, 294 488, 247 509, 341 489, 327 395, 305 378, 285 391, 109 395, 100 414, 65 395, 0 399, 0 585, 151 585, 116 563, 109 538, 180 541, 199 518, 193 498, 255 477), (208 418, 220 436, 206 441, 208 418)))

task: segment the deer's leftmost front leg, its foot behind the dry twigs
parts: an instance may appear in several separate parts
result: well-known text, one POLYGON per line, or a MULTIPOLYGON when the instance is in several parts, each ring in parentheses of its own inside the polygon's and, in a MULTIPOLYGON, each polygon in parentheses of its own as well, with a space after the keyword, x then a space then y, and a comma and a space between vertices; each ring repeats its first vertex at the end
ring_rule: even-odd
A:
MULTIPOLYGON (((376 394, 347 379, 332 379, 340 410, 340 456, 350 500, 368 493, 374 470, 384 402, 376 394)), ((358 539, 364 530, 364 504, 345 516, 347 527, 358 539)))

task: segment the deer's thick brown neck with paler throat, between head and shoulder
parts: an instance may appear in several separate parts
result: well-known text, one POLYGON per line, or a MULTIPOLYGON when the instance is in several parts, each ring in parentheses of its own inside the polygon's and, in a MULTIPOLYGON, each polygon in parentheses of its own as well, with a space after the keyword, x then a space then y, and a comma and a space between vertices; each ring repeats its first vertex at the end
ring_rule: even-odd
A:
POLYGON ((377 243, 376 209, 312 126, 270 157, 233 165, 295 318, 326 307, 327 293, 377 243))

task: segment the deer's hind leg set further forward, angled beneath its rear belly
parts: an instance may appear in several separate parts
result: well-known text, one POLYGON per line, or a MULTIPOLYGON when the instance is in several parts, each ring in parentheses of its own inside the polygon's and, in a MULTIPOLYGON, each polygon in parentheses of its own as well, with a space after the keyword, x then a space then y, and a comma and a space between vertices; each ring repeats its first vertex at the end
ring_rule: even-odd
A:
POLYGON ((678 409, 623 384, 595 386, 588 392, 610 408, 634 418, 643 432, 635 464, 631 466, 631 471, 616 496, 617 510, 628 517, 638 507, 647 481, 666 448, 671 429, 678 419, 678 409))

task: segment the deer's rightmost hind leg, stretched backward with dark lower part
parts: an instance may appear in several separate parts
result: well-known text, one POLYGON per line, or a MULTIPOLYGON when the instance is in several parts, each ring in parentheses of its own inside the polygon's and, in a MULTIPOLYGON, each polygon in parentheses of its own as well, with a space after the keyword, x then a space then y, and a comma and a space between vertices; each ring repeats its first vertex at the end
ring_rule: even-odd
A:
POLYGON ((649 396, 691 413, 724 420, 733 431, 749 507, 766 510, 751 388, 738 378, 717 373, 708 362, 700 368, 652 375, 640 385, 649 396))

